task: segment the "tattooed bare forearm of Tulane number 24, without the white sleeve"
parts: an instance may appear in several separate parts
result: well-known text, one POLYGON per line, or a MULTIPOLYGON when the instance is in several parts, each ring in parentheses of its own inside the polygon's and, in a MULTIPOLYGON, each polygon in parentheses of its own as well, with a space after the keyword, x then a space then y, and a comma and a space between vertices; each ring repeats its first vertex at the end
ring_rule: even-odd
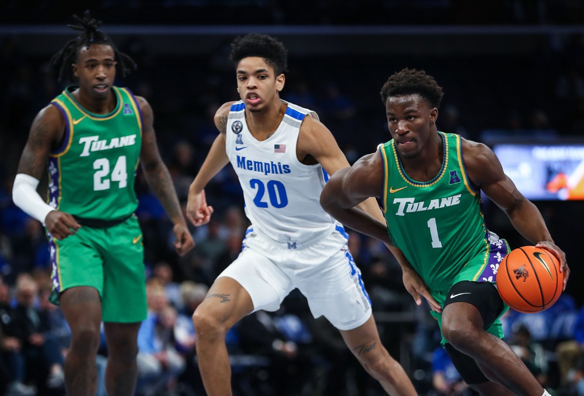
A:
POLYGON ((180 209, 179 199, 176 196, 175 186, 172 183, 171 174, 166 165, 159 162, 156 165, 145 166, 144 176, 148 185, 164 207, 166 216, 172 224, 185 223, 185 217, 180 209))

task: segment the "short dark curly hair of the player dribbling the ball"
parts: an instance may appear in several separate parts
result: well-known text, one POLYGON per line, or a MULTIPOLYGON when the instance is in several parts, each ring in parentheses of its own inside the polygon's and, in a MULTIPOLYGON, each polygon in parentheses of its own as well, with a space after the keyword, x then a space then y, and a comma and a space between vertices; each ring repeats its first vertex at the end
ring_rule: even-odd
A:
POLYGON ((404 96, 417 93, 426 99, 430 106, 440 107, 442 101, 442 87, 439 86, 436 80, 427 75, 423 70, 415 70, 404 68, 401 71, 395 72, 388 78, 387 82, 381 88, 381 100, 383 103, 387 102, 390 96, 404 96))

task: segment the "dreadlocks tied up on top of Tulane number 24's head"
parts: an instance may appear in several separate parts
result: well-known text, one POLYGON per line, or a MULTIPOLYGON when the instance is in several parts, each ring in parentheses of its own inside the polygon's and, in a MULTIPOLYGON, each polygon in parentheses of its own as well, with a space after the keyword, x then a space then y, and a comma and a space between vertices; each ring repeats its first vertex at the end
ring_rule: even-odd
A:
POLYGON ((107 46, 112 47, 115 60, 120 66, 122 75, 125 76, 126 74, 136 69, 137 65, 134 63, 132 58, 118 51, 112 39, 99 30, 99 27, 102 25, 102 21, 92 19, 91 15, 89 14, 89 10, 85 11, 83 18, 79 18, 77 15, 74 15, 73 18, 77 20, 79 25, 67 26, 71 27, 73 30, 78 30, 81 33, 79 33, 77 39, 70 40, 67 44, 65 44, 61 51, 55 54, 51 59, 51 64, 61 64, 61 69, 59 71, 59 81, 65 77, 67 77, 70 81, 75 81, 75 76, 73 75, 71 64, 77 62, 81 48, 89 48, 91 44, 106 44, 107 46))

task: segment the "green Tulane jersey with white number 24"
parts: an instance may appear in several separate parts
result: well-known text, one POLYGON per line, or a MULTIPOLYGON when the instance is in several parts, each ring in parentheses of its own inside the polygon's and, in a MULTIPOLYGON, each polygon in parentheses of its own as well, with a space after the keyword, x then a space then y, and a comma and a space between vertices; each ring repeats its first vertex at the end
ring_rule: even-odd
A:
POLYGON ((138 206, 135 171, 142 147, 142 116, 134 95, 113 87, 109 114, 85 110, 69 86, 51 101, 65 119, 65 138, 48 159, 48 203, 81 218, 120 220, 138 206))

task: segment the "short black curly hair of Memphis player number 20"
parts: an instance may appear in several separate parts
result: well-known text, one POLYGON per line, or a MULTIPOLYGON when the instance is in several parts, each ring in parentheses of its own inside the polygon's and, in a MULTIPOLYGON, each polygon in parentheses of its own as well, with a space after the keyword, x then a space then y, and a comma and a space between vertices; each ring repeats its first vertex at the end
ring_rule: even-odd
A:
POLYGON ((287 50, 280 41, 266 34, 248 34, 237 37, 231 44, 229 59, 237 66, 246 57, 263 58, 280 75, 288 71, 287 50))

